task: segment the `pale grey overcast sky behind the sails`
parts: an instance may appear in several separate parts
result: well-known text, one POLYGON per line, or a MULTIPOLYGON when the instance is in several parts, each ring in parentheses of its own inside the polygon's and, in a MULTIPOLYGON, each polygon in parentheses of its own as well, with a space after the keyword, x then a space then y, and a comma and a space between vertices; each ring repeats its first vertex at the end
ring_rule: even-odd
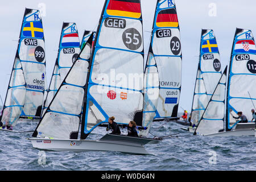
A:
MULTIPOLYGON (((84 1, 1 1, 0 2, 0 94, 4 101, 7 85, 13 67, 14 56, 25 7, 40 9, 46 5, 43 16, 44 38, 46 42, 47 83, 52 75, 60 30, 63 22, 75 22, 80 41, 84 30, 96 30, 105 0, 84 1)), ((148 49, 150 31, 155 13, 156 0, 141 0, 144 28, 144 48, 148 49)), ((192 95, 195 85, 201 28, 213 29, 216 35, 222 71, 230 60, 234 32, 236 27, 256 31, 256 2, 253 0, 176 0, 177 16, 180 24, 181 48, 183 54, 182 82, 179 111, 191 110, 192 95), (213 5, 216 5, 216 16, 213 5), (210 13, 210 15, 209 15, 210 13), (181 109, 181 107, 183 109, 181 109)), ((0 104, 2 105, 2 104, 0 104)))

